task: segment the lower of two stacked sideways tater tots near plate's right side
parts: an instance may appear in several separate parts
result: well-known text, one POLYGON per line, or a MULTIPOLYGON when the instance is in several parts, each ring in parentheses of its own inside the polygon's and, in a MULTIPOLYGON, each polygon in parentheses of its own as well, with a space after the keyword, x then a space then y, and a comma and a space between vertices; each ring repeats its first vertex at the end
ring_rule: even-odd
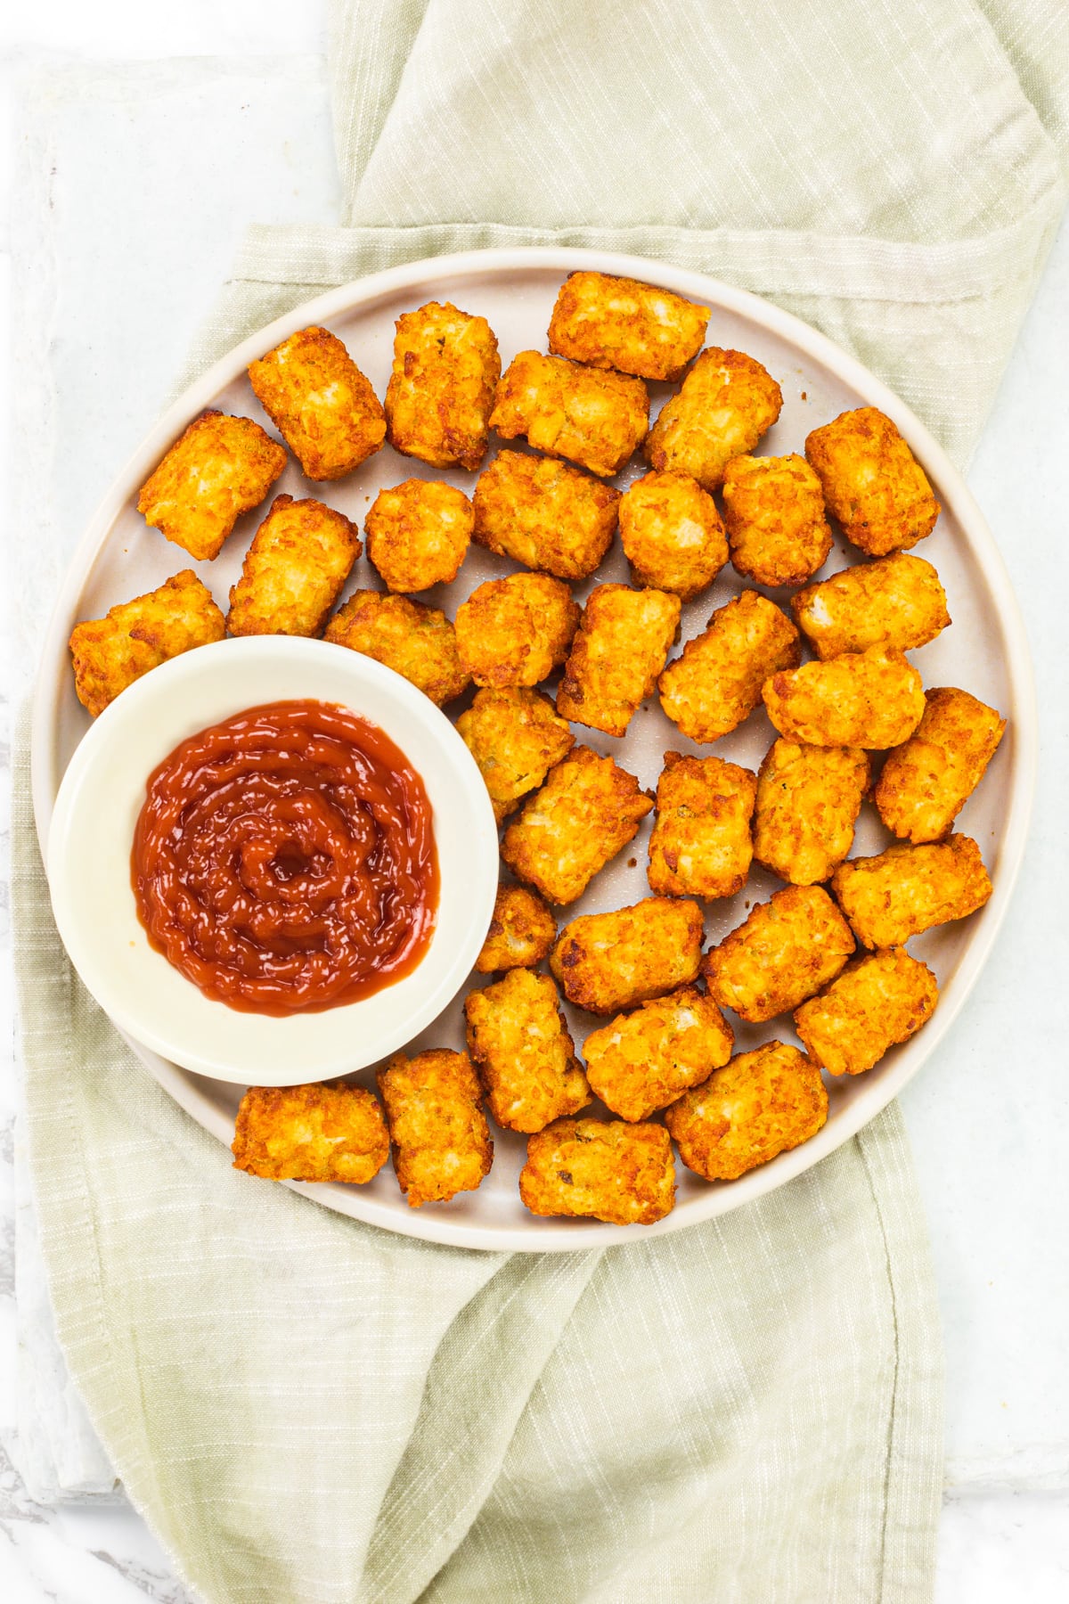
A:
POLYGON ((925 711, 920 674, 898 646, 803 662, 793 672, 773 674, 761 696, 779 733, 808 746, 901 746, 925 711))

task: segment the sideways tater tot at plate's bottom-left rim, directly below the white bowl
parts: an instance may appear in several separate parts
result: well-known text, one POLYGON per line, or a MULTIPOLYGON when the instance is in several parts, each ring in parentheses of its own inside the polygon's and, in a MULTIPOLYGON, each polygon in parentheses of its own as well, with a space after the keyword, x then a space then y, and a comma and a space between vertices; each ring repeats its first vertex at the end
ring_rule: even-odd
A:
POLYGON ((389 1158, 373 1092, 346 1081, 250 1086, 237 1110, 234 1169, 264 1181, 346 1181, 362 1187, 389 1158))

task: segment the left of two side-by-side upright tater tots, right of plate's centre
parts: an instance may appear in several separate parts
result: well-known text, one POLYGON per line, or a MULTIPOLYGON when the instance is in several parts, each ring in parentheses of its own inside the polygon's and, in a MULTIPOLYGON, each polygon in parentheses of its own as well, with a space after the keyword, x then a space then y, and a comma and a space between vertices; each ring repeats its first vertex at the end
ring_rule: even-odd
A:
POLYGON ((747 882, 756 776, 720 757, 665 752, 649 837, 649 887, 665 897, 734 897, 747 882))

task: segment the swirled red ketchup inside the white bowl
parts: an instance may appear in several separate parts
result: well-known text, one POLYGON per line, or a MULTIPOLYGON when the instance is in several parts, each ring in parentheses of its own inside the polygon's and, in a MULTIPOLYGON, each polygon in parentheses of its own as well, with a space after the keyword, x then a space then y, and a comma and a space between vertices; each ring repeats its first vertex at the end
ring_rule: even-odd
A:
POLYGON ((207 996, 319 1012, 393 985, 426 953, 431 804, 377 725, 332 703, 268 703, 160 764, 131 877, 151 945, 207 996))

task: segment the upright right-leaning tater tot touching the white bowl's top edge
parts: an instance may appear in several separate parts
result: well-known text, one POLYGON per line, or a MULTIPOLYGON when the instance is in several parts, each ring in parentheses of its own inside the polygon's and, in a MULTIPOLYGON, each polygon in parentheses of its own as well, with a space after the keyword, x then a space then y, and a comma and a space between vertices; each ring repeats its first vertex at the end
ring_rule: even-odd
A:
POLYGON ((317 635, 361 555, 356 525, 317 500, 276 496, 231 587, 231 635, 317 635))

